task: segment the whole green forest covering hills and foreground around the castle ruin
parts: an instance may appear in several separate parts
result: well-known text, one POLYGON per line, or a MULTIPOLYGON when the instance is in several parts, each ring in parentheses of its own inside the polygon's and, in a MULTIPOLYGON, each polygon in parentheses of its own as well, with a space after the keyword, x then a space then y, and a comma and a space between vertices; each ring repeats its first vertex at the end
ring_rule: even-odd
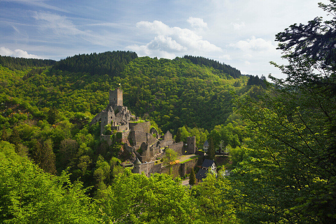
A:
MULTIPOLYGON (((319 7, 336 13, 336 1, 319 7)), ((197 57, 2 57, 0 222, 335 223, 335 30, 336 17, 317 17, 278 33, 288 64, 271 64, 287 78, 271 83, 197 57), (100 61, 111 73, 93 68, 100 61), (121 166, 121 145, 100 142, 98 123, 88 125, 119 83, 124 105, 176 141, 208 140, 216 161, 221 142, 230 156, 217 176, 189 189, 121 166)))

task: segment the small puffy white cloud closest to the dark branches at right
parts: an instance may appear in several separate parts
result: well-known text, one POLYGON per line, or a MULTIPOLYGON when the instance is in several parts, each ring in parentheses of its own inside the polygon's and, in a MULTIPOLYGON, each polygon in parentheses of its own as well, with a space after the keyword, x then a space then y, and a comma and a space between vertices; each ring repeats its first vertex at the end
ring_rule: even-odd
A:
POLYGON ((231 43, 228 46, 236 47, 243 51, 268 51, 268 52, 275 52, 276 46, 272 44, 271 41, 266 41, 262 38, 255 38, 252 36, 251 39, 247 40, 240 40, 237 43, 231 43))

